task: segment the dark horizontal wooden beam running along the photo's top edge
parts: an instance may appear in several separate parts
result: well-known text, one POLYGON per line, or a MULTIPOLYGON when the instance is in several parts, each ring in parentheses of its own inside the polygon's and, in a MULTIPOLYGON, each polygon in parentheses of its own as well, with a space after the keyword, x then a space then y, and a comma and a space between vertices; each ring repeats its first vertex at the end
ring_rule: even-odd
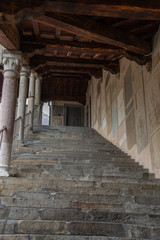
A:
MULTIPOLYGON (((1 2, 1 12, 8 14, 8 19, 20 21, 42 11, 101 17, 160 20, 159 0, 57 0, 57 1, 17 1, 1 2), (15 16, 10 17, 10 15, 15 16)), ((3 16, 4 17, 4 16, 3 16)), ((6 16, 7 17, 7 16, 6 16)), ((7 18, 5 18, 7 19, 7 18)))

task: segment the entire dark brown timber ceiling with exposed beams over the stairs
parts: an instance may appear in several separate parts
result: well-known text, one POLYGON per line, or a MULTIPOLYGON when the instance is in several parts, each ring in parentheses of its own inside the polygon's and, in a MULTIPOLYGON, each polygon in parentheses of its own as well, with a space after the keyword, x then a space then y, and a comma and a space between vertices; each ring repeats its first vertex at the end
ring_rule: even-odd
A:
POLYGON ((85 103, 88 80, 119 59, 150 61, 159 0, 5 0, 0 43, 43 77, 42 100, 85 103))

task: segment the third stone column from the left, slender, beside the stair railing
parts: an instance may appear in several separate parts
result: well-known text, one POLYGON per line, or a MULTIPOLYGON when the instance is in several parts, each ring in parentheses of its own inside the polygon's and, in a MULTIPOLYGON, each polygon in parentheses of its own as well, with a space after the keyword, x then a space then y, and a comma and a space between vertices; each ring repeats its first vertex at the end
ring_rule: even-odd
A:
POLYGON ((34 98, 35 98, 35 79, 37 74, 31 71, 29 81, 29 94, 28 94, 28 112, 31 112, 30 129, 33 130, 33 117, 34 117, 34 98))

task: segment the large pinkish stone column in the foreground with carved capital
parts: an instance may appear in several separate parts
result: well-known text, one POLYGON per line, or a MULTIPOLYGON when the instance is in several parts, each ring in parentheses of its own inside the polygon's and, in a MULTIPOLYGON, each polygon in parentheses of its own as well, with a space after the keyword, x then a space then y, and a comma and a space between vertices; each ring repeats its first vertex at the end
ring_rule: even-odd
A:
POLYGON ((3 67, 4 81, 0 129, 5 126, 7 130, 3 132, 0 149, 0 176, 9 176, 8 169, 12 151, 18 76, 21 68, 21 53, 4 51, 3 67))

